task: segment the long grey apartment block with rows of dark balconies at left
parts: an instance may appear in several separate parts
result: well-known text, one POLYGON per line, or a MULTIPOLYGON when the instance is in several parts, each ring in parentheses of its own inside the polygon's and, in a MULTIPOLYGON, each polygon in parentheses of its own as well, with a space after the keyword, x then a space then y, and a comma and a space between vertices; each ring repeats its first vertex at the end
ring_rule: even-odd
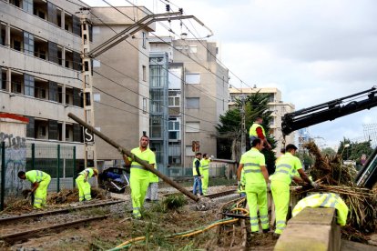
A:
POLYGON ((29 118, 28 143, 76 146, 83 159, 82 128, 67 117, 84 113, 76 3, 0 1, 0 113, 29 118))

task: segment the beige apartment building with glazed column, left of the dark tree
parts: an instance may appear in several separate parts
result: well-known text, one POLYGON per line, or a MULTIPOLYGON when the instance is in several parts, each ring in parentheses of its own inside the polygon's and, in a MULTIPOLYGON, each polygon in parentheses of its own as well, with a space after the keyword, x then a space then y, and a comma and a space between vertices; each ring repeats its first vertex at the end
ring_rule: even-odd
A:
POLYGON ((192 142, 216 155, 216 125, 228 110, 229 72, 206 40, 149 38, 152 52, 168 54, 168 165, 190 166, 192 142), (162 40, 162 41, 161 41, 162 40))

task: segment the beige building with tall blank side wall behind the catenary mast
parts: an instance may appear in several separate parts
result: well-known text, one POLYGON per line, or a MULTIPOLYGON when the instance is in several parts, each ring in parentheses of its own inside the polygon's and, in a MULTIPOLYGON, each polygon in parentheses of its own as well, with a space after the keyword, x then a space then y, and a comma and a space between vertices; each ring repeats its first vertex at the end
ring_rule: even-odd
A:
MULTIPOLYGON (((91 50, 151 14, 144 7, 117 9, 91 7, 91 50)), ((149 136, 148 32, 154 30, 155 24, 143 27, 93 61, 95 126, 127 149, 137 147, 143 134, 149 136)), ((121 159, 117 149, 98 137, 96 152, 99 167, 117 165, 121 159)))

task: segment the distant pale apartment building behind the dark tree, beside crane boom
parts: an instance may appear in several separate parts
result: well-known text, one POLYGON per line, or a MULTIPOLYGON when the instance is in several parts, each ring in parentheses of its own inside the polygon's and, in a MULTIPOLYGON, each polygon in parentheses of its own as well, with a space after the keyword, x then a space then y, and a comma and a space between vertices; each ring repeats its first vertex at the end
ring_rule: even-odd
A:
MULTIPOLYGON (((282 148, 282 133, 281 133, 281 117, 287 113, 294 111, 295 107, 293 104, 284 103, 281 100, 281 92, 278 88, 229 88, 229 109, 235 106, 235 99, 239 98, 239 95, 250 95, 259 92, 260 94, 269 95, 269 109, 272 112, 272 118, 270 120, 270 135, 275 137, 277 141, 276 150, 279 153, 280 148, 282 148)), ((249 129, 249 128, 247 128, 249 129)), ((291 133, 286 136, 286 144, 294 143, 295 134, 291 133)))

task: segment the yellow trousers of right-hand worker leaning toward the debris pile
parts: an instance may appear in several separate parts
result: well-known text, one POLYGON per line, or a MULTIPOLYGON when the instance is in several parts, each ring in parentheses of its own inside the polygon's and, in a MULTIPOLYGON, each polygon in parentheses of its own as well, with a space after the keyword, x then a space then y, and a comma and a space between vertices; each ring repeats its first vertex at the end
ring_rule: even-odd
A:
POLYGON ((288 206, 290 205, 290 185, 279 180, 271 181, 271 193, 275 203, 276 234, 281 234, 287 221, 288 206))

